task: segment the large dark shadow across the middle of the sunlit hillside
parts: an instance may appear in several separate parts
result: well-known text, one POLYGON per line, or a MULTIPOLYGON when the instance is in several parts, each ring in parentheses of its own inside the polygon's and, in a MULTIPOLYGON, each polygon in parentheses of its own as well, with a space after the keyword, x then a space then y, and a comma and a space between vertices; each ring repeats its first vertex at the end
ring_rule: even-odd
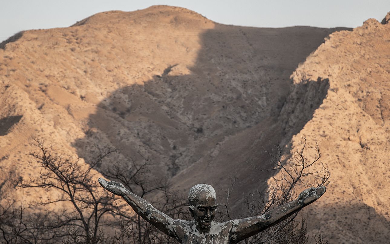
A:
POLYGON ((289 76, 332 31, 217 25, 202 35, 191 75, 169 75, 175 69, 169 64, 144 85, 118 89, 90 115, 92 129, 73 146, 87 160, 96 141, 124 156, 149 157, 154 172, 173 177, 183 192, 200 182, 227 187, 235 172, 232 199, 264 189, 269 173, 244 162, 262 165, 268 155, 261 148, 288 143, 321 105, 328 80, 291 87, 289 76))

